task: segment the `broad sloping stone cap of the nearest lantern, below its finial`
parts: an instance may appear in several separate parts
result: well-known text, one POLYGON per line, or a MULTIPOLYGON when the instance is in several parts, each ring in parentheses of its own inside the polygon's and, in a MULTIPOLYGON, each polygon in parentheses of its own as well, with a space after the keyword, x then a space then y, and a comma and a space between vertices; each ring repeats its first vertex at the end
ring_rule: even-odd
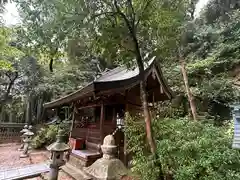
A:
POLYGON ((83 170, 98 180, 118 180, 127 175, 127 168, 117 158, 101 158, 83 170))

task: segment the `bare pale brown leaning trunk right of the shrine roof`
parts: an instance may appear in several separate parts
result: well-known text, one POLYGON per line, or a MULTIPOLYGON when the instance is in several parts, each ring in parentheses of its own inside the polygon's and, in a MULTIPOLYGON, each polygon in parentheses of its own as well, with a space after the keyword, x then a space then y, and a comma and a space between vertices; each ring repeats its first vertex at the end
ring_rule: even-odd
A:
POLYGON ((187 92, 188 101, 189 101, 191 112, 192 112, 192 117, 196 121, 197 120, 196 104, 195 104, 194 97, 192 95, 192 92, 191 92, 189 84, 188 84, 188 76, 187 76, 187 71, 186 71, 186 67, 185 67, 185 60, 181 56, 180 56, 180 63, 181 63, 181 72, 183 75, 183 81, 185 84, 185 89, 187 92))

